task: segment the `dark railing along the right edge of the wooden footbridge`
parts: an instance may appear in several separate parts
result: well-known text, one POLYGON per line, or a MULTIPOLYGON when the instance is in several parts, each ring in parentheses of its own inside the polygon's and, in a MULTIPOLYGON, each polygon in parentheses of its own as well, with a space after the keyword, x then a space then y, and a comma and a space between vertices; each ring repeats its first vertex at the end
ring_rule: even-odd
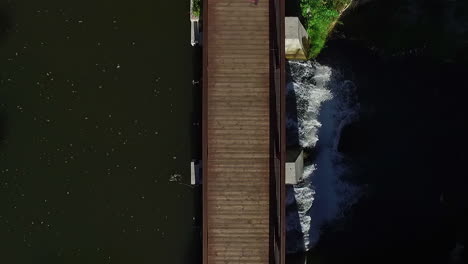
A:
POLYGON ((284 1, 270 1, 271 259, 285 263, 286 97, 284 1))

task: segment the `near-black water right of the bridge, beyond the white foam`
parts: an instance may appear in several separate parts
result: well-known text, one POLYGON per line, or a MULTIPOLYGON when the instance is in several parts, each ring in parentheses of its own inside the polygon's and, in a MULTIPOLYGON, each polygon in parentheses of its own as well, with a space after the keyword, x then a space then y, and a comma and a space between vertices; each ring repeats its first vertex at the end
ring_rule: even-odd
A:
MULTIPOLYGON (((313 192, 299 186, 312 194, 312 199, 304 196, 305 203, 296 192, 299 216, 302 205, 311 213, 299 227, 303 232, 306 227, 309 238, 319 235, 307 253, 308 263, 465 263, 468 5, 449 0, 356 3, 313 63, 356 87, 358 118, 339 130, 336 146, 346 172, 327 169, 322 176, 356 185, 360 193, 351 207, 317 229, 314 221, 326 216, 318 203, 323 190, 314 179, 318 171, 311 177, 313 192)), ((312 71, 302 86, 314 92, 321 76, 312 71)), ((317 103, 320 96, 313 99, 317 103)), ((309 158, 318 168, 326 168, 321 157, 329 157, 321 155, 326 148, 317 148, 329 139, 328 133, 325 138, 320 134, 327 127, 320 120, 324 106, 318 115, 302 118, 304 124, 323 125, 315 125, 318 133, 309 126, 312 133, 307 133, 317 134, 309 158)))

